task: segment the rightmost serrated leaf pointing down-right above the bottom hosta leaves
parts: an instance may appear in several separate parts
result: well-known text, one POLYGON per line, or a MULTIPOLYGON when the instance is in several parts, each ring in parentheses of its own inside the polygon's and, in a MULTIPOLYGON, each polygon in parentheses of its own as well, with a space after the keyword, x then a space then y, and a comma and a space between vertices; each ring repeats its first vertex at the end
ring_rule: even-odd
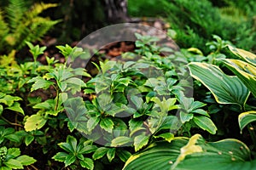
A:
POLYGON ((217 127, 207 116, 194 116, 193 121, 198 127, 207 130, 211 134, 215 134, 217 131, 217 127))

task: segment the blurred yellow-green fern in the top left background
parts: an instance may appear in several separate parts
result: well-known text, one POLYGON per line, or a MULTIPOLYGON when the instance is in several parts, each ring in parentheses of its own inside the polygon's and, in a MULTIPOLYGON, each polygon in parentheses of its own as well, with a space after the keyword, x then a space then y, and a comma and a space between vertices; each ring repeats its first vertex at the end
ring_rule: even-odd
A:
POLYGON ((9 0, 6 8, 0 8, 0 54, 9 54, 12 49, 26 46, 26 41, 35 42, 44 37, 59 20, 38 16, 55 3, 35 3, 28 7, 26 0, 9 0))

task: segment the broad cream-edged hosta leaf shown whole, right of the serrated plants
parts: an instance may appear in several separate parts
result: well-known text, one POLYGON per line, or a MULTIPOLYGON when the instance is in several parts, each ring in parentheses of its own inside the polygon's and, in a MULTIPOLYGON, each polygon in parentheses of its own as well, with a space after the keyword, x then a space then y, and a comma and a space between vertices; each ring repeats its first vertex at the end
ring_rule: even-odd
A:
POLYGON ((216 65, 207 63, 189 64, 192 77, 202 82, 213 94, 219 104, 244 105, 249 90, 238 77, 227 76, 216 65))

